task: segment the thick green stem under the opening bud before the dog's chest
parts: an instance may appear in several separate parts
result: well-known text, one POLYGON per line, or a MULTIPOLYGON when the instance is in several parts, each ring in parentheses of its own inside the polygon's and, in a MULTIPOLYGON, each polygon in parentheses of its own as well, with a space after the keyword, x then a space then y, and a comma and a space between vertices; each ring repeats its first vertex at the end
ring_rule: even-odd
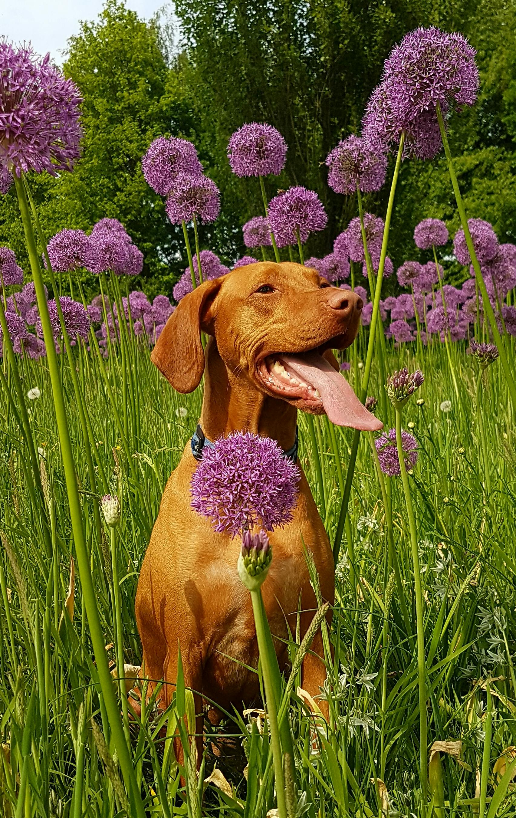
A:
POLYGON ((280 729, 278 726, 278 706, 280 693, 276 690, 274 684, 274 677, 279 675, 275 673, 275 669, 271 667, 269 645, 267 645, 267 631, 269 631, 269 623, 267 622, 267 614, 263 607, 262 591, 249 591, 251 595, 251 602, 253 605, 254 625, 256 627, 256 638, 258 641, 258 650, 260 654, 260 661, 262 663, 263 686, 265 687, 265 696, 267 699, 267 721, 269 723, 269 731, 271 733, 271 748, 272 760, 274 762, 274 776, 276 779, 276 798, 278 803, 278 814, 280 818, 287 818, 287 807, 285 800, 285 775, 283 772, 283 753, 281 752, 280 744, 280 729))

